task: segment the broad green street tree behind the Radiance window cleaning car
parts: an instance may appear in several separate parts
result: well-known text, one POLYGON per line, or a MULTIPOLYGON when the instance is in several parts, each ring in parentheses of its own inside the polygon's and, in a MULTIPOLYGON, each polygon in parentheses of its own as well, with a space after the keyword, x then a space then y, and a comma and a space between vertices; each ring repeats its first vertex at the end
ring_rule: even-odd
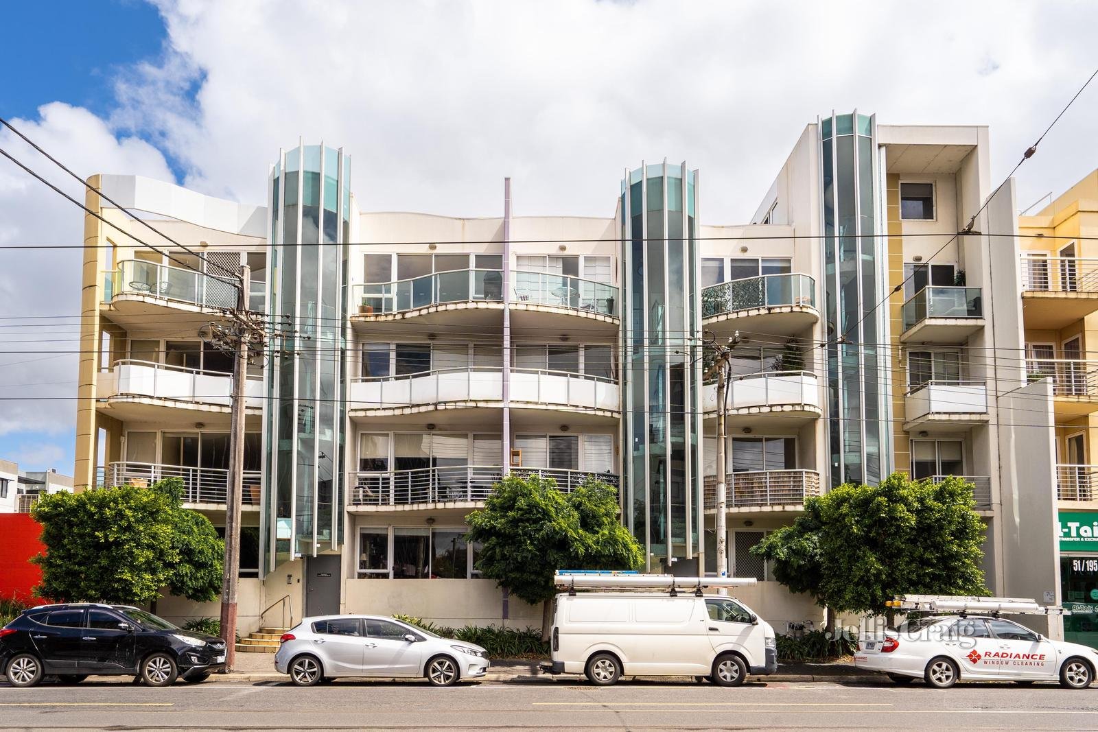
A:
POLYGON ((791 525, 751 552, 774 578, 834 612, 887 615, 895 595, 986 595, 985 527, 972 484, 894 473, 879 485, 845 484, 805 500, 791 525))

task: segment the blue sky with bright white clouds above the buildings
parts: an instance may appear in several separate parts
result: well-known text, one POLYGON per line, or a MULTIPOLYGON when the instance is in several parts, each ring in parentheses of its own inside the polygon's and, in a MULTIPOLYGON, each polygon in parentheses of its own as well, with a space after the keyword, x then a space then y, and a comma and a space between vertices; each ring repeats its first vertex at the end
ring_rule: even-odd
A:
MULTIPOLYGON (((1098 4, 1080 2, 67 0, 3 16, 0 116, 81 176, 257 203, 304 137, 351 154, 363 210, 470 216, 500 214, 504 176, 518 215, 610 215, 623 169, 666 157, 702 169, 706 223, 742 223, 832 109, 988 124, 998 180, 1098 67, 1098 4)), ((1095 120, 1098 83, 1019 171, 1021 205, 1098 167, 1095 120)), ((0 147, 82 198, 7 131, 0 147)), ((81 216, 0 159, 0 458, 30 470, 72 469, 80 254, 10 247, 79 244, 81 216)))

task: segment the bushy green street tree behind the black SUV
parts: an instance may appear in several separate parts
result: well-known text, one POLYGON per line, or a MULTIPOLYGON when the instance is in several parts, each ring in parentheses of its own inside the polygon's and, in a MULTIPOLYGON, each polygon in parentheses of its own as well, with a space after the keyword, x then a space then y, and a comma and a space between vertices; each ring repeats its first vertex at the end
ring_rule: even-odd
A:
POLYGON ((210 520, 182 508, 182 482, 43 496, 31 516, 46 551, 40 597, 156 603, 161 592, 209 601, 221 588, 224 544, 210 520))

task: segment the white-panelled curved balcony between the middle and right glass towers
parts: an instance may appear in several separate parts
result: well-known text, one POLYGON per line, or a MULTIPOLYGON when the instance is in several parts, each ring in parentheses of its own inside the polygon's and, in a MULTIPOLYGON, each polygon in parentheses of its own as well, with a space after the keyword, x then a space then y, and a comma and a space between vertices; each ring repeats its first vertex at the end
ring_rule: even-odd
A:
MULTIPOLYGON (((789 424, 816 419, 822 414, 819 378, 811 371, 764 371, 732 376, 727 388, 725 416, 733 425, 741 417, 750 417, 755 426, 760 417, 789 424)), ((705 385, 702 409, 706 418, 716 416, 716 384, 705 385)))

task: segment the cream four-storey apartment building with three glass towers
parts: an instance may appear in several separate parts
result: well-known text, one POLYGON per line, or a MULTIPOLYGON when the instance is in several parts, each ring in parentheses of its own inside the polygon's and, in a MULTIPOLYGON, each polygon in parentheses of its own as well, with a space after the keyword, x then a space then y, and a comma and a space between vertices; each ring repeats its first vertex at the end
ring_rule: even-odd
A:
POLYGON ((323 145, 279 154, 266 206, 96 177, 208 254, 89 195, 111 225, 87 219, 77 484, 179 475, 224 523, 228 363, 199 331, 247 262, 250 306, 294 334, 247 385, 245 630, 340 610, 537 624, 463 537, 508 471, 601 477, 646 570, 694 574, 716 572, 724 470, 730 572, 780 629, 821 610, 748 550, 806 497, 964 475, 989 587, 1055 599, 1053 386, 1026 376, 1013 188, 987 201, 987 155, 985 127, 832 114, 741 225, 703 223, 699 171, 665 160, 625 168, 605 217, 513 215, 511 181, 500 217, 368 212, 323 145), (703 344, 737 333, 718 468, 703 344))

